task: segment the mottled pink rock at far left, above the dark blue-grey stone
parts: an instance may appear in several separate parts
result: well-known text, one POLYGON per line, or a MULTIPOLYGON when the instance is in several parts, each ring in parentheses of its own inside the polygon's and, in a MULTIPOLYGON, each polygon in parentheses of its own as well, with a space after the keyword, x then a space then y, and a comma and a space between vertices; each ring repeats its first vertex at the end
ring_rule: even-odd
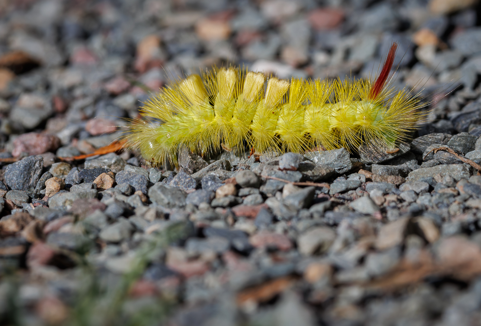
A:
POLYGON ((60 147, 60 139, 54 135, 30 132, 13 140, 12 155, 20 156, 22 152, 28 155, 38 155, 47 151, 55 151, 60 147))

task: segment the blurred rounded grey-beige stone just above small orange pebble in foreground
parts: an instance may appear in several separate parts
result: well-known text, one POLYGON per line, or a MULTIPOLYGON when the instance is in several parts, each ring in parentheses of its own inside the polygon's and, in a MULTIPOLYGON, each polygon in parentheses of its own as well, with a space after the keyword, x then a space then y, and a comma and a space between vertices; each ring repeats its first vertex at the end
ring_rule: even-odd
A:
POLYGON ((299 252, 304 256, 324 253, 336 238, 330 227, 315 227, 301 234, 297 240, 299 252))

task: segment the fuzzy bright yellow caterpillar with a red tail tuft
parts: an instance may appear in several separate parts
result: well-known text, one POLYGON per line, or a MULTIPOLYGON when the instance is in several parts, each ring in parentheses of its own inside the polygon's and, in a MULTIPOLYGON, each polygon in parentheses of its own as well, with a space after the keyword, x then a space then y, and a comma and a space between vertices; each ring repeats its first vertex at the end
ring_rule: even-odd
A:
POLYGON ((189 75, 144 103, 127 125, 127 146, 152 163, 177 166, 183 147, 307 153, 363 144, 395 151, 422 118, 421 99, 390 86, 397 43, 371 78, 291 80, 221 67, 189 75))

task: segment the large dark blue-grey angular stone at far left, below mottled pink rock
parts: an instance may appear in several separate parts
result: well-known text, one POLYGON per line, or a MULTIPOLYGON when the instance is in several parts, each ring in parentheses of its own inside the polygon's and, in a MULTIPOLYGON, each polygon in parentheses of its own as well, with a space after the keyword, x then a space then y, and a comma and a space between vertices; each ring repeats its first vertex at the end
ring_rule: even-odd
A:
POLYGON ((43 158, 39 155, 28 156, 5 169, 5 183, 14 190, 34 188, 42 174, 43 158))

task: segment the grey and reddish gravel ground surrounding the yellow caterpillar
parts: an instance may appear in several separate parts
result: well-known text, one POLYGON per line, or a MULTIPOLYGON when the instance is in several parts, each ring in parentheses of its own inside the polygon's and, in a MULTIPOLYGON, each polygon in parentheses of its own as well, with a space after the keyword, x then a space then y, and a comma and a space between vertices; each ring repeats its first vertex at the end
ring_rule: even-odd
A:
POLYGON ((0 325, 481 325, 473 2, 0 1, 0 325), (431 102, 397 153, 59 159, 169 78, 363 77, 393 40, 431 102))

